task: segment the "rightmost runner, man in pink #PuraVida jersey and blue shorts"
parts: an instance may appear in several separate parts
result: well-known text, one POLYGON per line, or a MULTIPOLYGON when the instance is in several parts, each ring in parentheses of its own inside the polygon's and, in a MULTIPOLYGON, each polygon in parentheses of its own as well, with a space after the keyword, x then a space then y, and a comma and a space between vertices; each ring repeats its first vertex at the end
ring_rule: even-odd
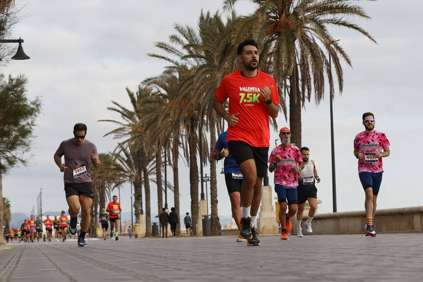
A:
POLYGON ((354 139, 354 156, 358 159, 358 176, 365 192, 365 210, 367 217, 366 236, 376 237, 373 218, 376 213, 376 199, 382 182, 382 157, 390 154, 386 135, 374 130, 376 121, 371 112, 363 114, 365 131, 354 139), (383 152, 382 152, 383 150, 383 152))

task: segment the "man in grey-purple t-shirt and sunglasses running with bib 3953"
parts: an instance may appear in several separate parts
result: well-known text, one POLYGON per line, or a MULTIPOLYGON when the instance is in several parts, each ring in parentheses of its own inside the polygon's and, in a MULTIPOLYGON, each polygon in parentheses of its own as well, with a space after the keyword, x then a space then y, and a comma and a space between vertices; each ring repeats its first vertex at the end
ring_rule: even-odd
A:
POLYGON ((85 233, 91 222, 91 205, 94 199, 94 191, 91 183, 90 161, 94 167, 100 167, 101 162, 97 154, 96 145, 85 139, 87 126, 77 123, 74 126, 74 138, 60 143, 54 160, 61 172, 64 172, 66 201, 69 205, 69 231, 72 235, 77 232, 78 213, 81 209, 81 233, 78 238, 78 246, 85 247, 85 233), (62 156, 65 162, 62 164, 62 156), (85 231, 84 231, 85 230, 85 231))

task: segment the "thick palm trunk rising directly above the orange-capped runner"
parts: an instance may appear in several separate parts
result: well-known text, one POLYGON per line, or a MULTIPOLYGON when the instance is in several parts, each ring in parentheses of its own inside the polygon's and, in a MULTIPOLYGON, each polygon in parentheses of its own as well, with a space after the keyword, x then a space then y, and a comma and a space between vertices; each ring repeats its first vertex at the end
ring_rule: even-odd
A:
POLYGON ((291 130, 291 143, 301 148, 301 98, 299 95, 299 82, 293 76, 289 77, 289 81, 291 85, 289 89, 289 129, 291 130))

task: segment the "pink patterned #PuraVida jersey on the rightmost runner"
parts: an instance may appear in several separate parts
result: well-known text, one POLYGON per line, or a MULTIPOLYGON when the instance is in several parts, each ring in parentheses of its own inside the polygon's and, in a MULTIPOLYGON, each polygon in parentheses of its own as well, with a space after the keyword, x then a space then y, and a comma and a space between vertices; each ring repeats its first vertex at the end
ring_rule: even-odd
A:
POLYGON ((363 153, 364 159, 358 160, 358 172, 383 172, 382 158, 376 159, 375 151, 382 153, 382 148, 389 147, 385 133, 380 131, 360 132, 354 138, 354 149, 363 153))

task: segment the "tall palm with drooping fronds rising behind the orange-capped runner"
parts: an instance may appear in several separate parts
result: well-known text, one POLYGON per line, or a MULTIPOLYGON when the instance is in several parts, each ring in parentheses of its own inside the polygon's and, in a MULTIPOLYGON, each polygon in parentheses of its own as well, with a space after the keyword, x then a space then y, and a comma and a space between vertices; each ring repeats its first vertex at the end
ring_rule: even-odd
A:
MULTIPOLYGON (((332 57, 340 93, 343 90, 340 58, 351 66, 349 56, 330 35, 328 27, 356 30, 376 43, 367 31, 349 20, 350 16, 370 17, 356 4, 359 0, 251 1, 258 7, 238 22, 232 35, 233 44, 238 45, 247 33, 253 32, 253 38, 265 51, 261 54, 259 68, 269 65, 267 68, 278 86, 285 118, 288 93, 291 142, 301 147, 301 108, 306 99, 310 101, 313 90, 316 104, 323 99, 325 73, 330 93, 333 93, 332 72, 325 50, 332 57)), ((224 7, 232 8, 236 2, 224 0, 224 7)))

